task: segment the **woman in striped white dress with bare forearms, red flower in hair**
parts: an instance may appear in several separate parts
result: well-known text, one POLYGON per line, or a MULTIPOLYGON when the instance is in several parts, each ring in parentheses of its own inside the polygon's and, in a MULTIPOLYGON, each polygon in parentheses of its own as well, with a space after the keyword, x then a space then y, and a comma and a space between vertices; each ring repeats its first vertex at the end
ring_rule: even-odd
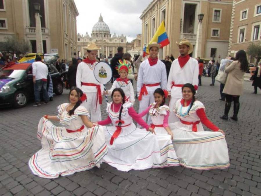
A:
POLYGON ((33 174, 57 178, 100 167, 107 145, 102 127, 93 126, 86 108, 80 105, 85 99, 79 88, 71 89, 70 103, 59 105, 57 116, 45 115, 40 119, 37 138, 42 149, 28 162, 33 174), (63 127, 56 127, 50 120, 60 121, 63 127))

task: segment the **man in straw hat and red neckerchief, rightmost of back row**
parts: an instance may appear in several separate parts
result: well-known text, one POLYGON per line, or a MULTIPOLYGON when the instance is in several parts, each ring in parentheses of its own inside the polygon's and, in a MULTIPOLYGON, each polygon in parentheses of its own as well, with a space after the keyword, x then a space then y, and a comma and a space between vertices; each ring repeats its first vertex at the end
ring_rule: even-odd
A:
POLYGON ((198 88, 199 63, 196 59, 189 56, 193 51, 193 45, 187 39, 181 39, 179 43, 180 56, 172 62, 168 77, 167 89, 170 99, 169 123, 174 123, 179 119, 173 112, 174 105, 182 98, 181 88, 184 84, 190 83, 198 88))

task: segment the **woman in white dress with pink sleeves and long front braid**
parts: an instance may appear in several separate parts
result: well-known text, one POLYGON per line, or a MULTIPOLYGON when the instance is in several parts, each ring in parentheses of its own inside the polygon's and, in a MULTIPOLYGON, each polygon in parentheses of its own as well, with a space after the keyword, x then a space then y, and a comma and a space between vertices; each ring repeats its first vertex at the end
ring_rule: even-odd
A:
POLYGON ((131 102, 125 103, 122 89, 116 88, 111 93, 112 102, 107 106, 108 117, 99 121, 104 127, 108 154, 103 161, 120 171, 143 170, 161 166, 161 150, 154 130, 135 112, 131 102), (145 127, 137 128, 133 119, 145 127), (147 132, 146 132, 147 130, 147 132))

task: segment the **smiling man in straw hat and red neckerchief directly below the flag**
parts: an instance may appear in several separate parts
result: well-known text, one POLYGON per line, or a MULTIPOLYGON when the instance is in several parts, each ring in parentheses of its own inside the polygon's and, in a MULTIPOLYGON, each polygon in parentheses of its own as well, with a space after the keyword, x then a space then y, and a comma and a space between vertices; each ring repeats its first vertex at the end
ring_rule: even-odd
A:
MULTIPOLYGON (((150 56, 147 60, 143 61, 139 67, 138 80, 137 80, 137 94, 140 101, 139 113, 143 112, 150 103, 154 103, 154 91, 157 88, 166 90, 167 88, 167 73, 165 64, 158 59, 160 44, 152 42, 149 44, 150 56)), ((147 115, 143 116, 146 120, 147 115)), ((152 123, 150 116, 148 124, 152 123)))

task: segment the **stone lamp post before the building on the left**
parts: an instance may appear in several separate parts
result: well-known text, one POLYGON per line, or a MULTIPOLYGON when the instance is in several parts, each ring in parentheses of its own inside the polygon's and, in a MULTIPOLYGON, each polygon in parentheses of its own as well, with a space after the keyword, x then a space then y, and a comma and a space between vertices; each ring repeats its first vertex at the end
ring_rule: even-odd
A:
POLYGON ((34 3, 35 8, 35 34, 36 34, 36 52, 43 53, 43 37, 42 37, 42 28, 41 28, 41 16, 39 14, 40 11, 40 3, 34 3))

